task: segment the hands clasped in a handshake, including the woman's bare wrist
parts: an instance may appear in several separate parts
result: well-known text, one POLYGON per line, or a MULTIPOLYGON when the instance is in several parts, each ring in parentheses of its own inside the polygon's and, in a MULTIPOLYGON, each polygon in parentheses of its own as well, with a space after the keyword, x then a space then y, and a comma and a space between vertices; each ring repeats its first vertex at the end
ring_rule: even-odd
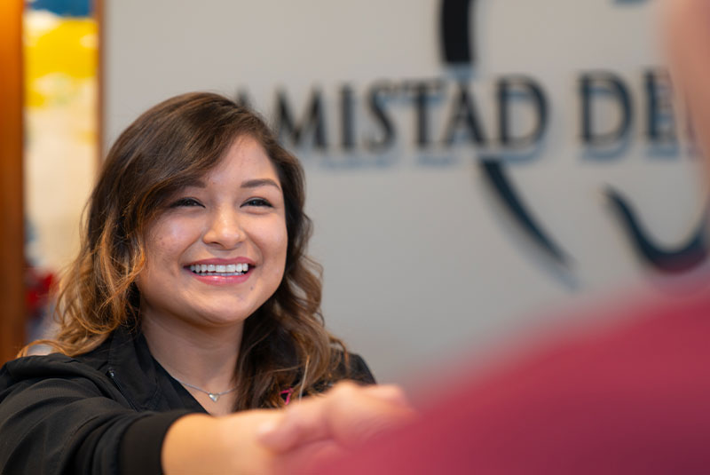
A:
POLYGON ((394 386, 343 382, 286 409, 181 417, 164 439, 162 468, 167 475, 303 469, 412 416, 394 386))

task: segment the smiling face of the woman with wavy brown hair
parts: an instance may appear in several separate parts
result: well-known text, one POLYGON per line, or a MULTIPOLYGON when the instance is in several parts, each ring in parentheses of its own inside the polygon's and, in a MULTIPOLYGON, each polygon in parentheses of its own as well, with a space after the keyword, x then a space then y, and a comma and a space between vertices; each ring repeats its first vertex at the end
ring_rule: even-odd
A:
POLYGON ((287 243, 278 174, 255 139, 237 139, 148 227, 137 281, 142 318, 241 326, 279 287, 287 243))

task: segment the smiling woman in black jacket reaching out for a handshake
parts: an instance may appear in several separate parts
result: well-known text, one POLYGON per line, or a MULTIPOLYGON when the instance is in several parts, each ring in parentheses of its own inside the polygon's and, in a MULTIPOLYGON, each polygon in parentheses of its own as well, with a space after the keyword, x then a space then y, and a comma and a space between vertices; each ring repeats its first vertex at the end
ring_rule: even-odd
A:
POLYGON ((248 109, 191 93, 138 117, 61 281, 58 352, 0 372, 0 471, 261 473, 406 414, 350 386, 232 414, 374 382, 324 328, 310 234, 303 170, 248 109))

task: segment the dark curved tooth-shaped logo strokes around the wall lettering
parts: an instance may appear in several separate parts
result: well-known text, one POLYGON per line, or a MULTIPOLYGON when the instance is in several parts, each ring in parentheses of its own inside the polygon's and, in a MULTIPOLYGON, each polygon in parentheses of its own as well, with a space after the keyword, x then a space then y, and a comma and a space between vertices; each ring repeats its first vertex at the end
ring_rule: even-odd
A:
MULTIPOLYGON (((617 3, 640 4, 643 0, 617 0, 617 3)), ((447 66, 472 67, 477 59, 476 4, 474 0, 441 0, 439 41, 442 59, 447 66)), ((482 157, 478 162, 493 193, 503 203, 517 225, 557 264, 569 267, 571 259, 541 226, 540 221, 534 218, 530 208, 525 205, 525 201, 510 181, 501 160, 496 157, 482 157)), ((605 194, 637 254, 657 271, 683 272, 706 259, 705 219, 688 241, 676 249, 662 249, 643 229, 633 207, 617 190, 608 186, 605 194)))

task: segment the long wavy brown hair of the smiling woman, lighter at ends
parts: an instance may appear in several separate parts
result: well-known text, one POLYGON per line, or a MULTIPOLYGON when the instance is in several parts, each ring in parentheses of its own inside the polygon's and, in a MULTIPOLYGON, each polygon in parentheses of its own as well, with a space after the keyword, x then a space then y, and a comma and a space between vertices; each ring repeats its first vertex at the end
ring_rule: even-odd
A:
POLYGON ((35 343, 75 356, 120 326, 138 329, 135 281, 146 264, 147 226, 171 194, 215 167, 243 137, 256 139, 278 170, 288 248, 279 288, 244 324, 235 410, 279 407, 286 388, 317 392, 342 377, 347 352, 324 327, 320 268, 305 254, 312 223, 304 213, 304 171, 261 118, 212 93, 152 107, 111 147, 84 217, 79 256, 59 284, 59 332, 35 343))

